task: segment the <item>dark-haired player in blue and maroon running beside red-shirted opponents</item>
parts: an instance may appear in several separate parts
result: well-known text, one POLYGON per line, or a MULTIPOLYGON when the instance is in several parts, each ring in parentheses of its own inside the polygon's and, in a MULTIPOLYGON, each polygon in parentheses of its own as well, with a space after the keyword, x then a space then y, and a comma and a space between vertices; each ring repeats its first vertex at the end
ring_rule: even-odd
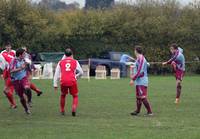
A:
POLYGON ((25 95, 27 95, 28 102, 31 100, 31 90, 26 76, 27 63, 24 61, 25 51, 22 48, 17 49, 16 57, 10 64, 11 80, 17 92, 20 102, 24 107, 26 114, 30 114, 30 110, 27 106, 25 95))

